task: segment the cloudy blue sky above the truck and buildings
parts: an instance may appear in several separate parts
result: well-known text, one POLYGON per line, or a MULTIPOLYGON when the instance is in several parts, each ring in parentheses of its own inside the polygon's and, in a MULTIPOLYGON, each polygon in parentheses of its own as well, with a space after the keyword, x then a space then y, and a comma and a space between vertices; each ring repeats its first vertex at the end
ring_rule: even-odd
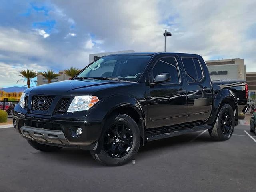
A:
POLYGON ((255 0, 0 0, 0 87, 19 71, 88 65, 89 54, 134 50, 244 58, 256 71, 255 0))

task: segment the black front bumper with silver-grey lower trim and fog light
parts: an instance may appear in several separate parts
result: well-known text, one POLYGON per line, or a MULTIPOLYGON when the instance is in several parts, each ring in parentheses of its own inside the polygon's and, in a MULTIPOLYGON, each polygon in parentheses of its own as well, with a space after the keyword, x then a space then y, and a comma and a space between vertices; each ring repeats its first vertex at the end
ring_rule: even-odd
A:
POLYGON ((27 140, 54 146, 76 147, 95 150, 100 136, 100 124, 86 121, 53 120, 14 114, 16 131, 27 140), (82 134, 77 135, 76 129, 82 128, 82 134))

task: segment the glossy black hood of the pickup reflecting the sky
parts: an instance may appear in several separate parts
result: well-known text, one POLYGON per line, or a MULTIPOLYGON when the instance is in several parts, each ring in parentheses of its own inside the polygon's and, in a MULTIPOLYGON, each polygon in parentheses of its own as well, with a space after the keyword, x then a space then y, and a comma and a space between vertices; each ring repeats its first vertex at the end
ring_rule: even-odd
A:
POLYGON ((89 94, 86 88, 118 83, 120 82, 114 80, 66 80, 28 88, 24 92, 38 95, 72 96, 76 95, 76 91, 81 93, 81 89, 85 89, 84 94, 89 94))

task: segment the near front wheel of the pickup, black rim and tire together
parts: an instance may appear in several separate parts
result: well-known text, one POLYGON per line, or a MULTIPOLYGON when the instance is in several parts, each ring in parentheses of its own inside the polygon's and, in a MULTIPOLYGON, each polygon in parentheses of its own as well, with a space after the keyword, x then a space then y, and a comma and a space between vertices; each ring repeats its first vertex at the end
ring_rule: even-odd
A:
POLYGON ((101 164, 120 166, 132 160, 139 147, 140 131, 136 122, 126 114, 114 114, 106 120, 98 148, 90 153, 101 164))

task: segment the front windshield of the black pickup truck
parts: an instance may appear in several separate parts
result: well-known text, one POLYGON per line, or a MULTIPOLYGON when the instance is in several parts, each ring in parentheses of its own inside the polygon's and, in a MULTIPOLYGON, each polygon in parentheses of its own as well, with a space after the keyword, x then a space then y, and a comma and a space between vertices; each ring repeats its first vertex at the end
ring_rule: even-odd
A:
POLYGON ((136 82, 151 58, 148 55, 104 56, 86 67, 77 77, 108 77, 136 82))

